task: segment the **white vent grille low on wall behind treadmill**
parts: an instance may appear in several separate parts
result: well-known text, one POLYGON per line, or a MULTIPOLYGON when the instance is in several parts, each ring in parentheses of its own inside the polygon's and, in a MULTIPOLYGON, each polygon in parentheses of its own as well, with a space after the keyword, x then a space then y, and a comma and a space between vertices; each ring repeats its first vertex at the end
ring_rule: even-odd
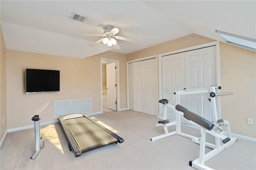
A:
POLYGON ((91 113, 92 98, 53 101, 54 119, 72 113, 91 113))

